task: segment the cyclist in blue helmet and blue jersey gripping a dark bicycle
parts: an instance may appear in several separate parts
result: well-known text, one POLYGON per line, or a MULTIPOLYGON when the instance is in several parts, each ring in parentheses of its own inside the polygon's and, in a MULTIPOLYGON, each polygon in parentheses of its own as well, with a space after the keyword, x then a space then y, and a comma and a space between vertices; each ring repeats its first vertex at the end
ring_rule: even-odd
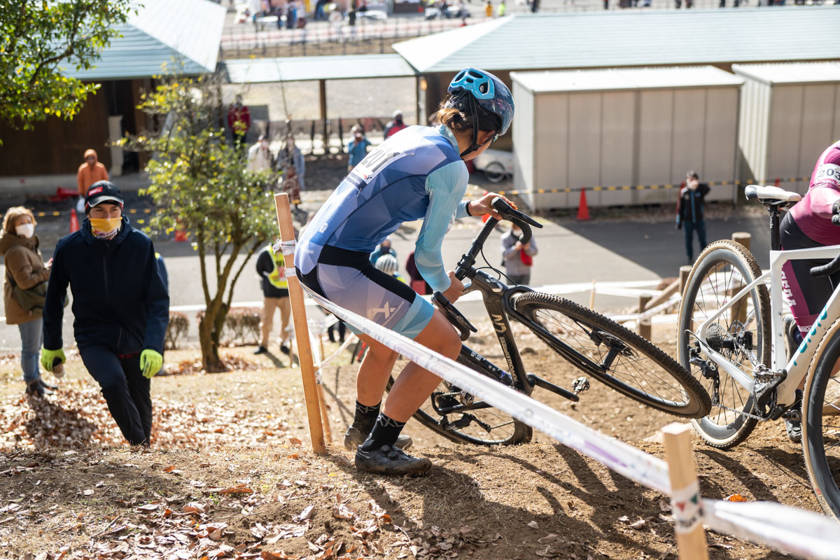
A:
MULTIPOLYGON (((496 76, 460 71, 438 111, 442 124, 392 135, 350 171, 308 224, 295 252, 301 281, 339 306, 454 359, 461 348, 454 327, 410 287, 376 270, 370 252, 402 222, 423 218, 414 253, 417 268, 434 290, 457 300, 464 285, 452 271, 447 274, 440 252, 449 223, 486 213, 501 217, 491 207, 494 193, 461 201, 467 187, 464 162, 506 133, 512 118, 511 92, 496 76)), ((423 474, 431 461, 402 451, 411 440, 400 432, 440 379, 408 364, 380 411, 397 355, 365 335, 360 338, 370 349, 356 380, 355 416, 344 445, 356 449, 359 470, 423 474)))

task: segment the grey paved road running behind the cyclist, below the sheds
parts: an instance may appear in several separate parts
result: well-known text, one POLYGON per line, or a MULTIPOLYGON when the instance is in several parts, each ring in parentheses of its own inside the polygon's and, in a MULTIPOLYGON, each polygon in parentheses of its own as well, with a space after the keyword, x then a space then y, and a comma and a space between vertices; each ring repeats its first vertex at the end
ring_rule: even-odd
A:
MULTIPOLYGON (((685 264, 682 233, 675 230, 672 222, 640 221, 591 221, 557 222, 543 220, 544 228, 538 230, 540 253, 534 259, 532 285, 566 284, 572 282, 615 281, 615 280, 659 280, 676 276, 681 264, 685 264)), ((404 272, 405 259, 417 238, 419 222, 406 224, 393 236, 394 248, 404 272)), ((40 227, 40 226, 39 226, 40 227)), ((732 232, 753 233, 753 251, 759 257, 759 264, 768 266, 767 225, 764 217, 738 217, 728 220, 707 220, 709 239, 730 238, 732 232)), ((444 243, 444 262, 454 268, 460 254, 469 246, 478 222, 463 220, 452 229, 444 243)), ((486 243, 485 254, 493 266, 499 267, 499 234, 486 243)), ((187 306, 203 303, 202 285, 199 276, 197 254, 189 243, 157 243, 169 271, 171 305, 187 306)), ((44 251, 49 258, 52 249, 44 251)), ((241 261, 240 261, 241 262, 241 261)), ((208 267, 213 264, 207 259, 208 267)), ((254 270, 255 261, 246 264, 246 269, 234 290, 234 302, 260 301, 261 292, 254 270)), ((211 286, 213 289, 213 286, 211 286)), ((589 303, 588 292, 569 296, 585 305, 589 303)), ((615 296, 598 296, 596 309, 616 311, 633 306, 633 301, 615 296)), ((463 311, 470 317, 482 317, 478 303, 463 305, 463 311)), ((68 310, 65 325, 65 340, 72 340, 71 313, 68 310)), ((192 316, 192 313, 191 313, 192 316)), ((193 322, 191 338, 196 337, 193 322)), ((17 327, 0 325, 0 349, 18 350, 17 327)))

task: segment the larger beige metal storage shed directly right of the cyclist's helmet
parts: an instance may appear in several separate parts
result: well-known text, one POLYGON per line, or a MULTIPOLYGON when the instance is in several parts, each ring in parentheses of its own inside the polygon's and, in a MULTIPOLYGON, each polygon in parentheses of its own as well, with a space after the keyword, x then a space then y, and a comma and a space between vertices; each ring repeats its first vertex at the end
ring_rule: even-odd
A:
POLYGON ((743 78, 712 66, 511 72, 513 181, 532 208, 673 203, 687 170, 732 200, 743 78), (723 186, 722 181, 727 181, 723 186))

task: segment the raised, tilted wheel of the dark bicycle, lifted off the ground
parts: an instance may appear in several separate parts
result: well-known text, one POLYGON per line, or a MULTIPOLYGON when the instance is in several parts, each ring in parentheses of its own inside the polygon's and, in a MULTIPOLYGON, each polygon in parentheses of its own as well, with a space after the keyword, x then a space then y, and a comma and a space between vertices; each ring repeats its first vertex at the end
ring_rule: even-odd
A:
MULTIPOLYGON (((675 416, 699 418, 709 395, 668 354, 635 332, 573 301, 528 291, 516 309, 543 327, 532 331, 572 364, 622 395, 675 416), (564 343, 573 354, 564 351, 564 343)), ((526 323, 526 326, 528 324, 526 323)))

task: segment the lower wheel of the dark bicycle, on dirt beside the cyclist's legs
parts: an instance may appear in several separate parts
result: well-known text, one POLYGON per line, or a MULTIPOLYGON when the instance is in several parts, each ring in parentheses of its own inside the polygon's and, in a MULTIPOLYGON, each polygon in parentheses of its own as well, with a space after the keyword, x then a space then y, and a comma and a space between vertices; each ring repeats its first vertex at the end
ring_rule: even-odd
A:
MULTIPOLYGON (((462 353, 464 350, 462 350, 462 353)), ((480 374, 496 379, 486 370, 470 364, 462 355, 457 359, 480 374)), ((394 365, 393 374, 388 379, 387 390, 394 384, 394 376, 399 374, 408 364, 408 360, 400 356, 394 365)), ((441 414, 439 411, 446 406, 459 404, 475 404, 473 396, 463 392, 458 387, 441 379, 440 385, 433 391, 423 405, 414 413, 414 419, 433 432, 459 443, 475 443, 477 445, 512 445, 528 443, 533 436, 533 429, 528 424, 515 420, 506 412, 496 408, 470 408, 463 412, 441 414)))

